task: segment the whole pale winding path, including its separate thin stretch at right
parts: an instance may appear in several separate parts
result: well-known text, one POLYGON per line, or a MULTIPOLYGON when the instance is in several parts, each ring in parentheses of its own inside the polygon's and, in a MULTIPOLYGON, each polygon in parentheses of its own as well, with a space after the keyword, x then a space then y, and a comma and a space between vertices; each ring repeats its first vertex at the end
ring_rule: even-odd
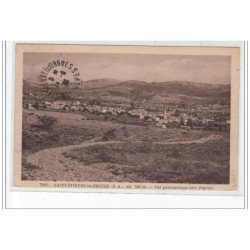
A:
MULTIPOLYGON (((219 140, 221 135, 210 135, 192 141, 179 142, 155 142, 160 145, 170 144, 190 144, 190 143, 205 143, 208 141, 219 140)), ((70 145, 57 148, 49 148, 40 150, 32 155, 27 156, 27 163, 36 166, 32 171, 29 171, 28 179, 40 181, 121 181, 120 176, 114 176, 106 169, 106 164, 100 163, 93 165, 84 165, 75 159, 66 158, 64 152, 69 150, 85 148, 93 145, 107 145, 114 143, 123 143, 123 141, 97 141, 90 140, 78 145, 70 145)))

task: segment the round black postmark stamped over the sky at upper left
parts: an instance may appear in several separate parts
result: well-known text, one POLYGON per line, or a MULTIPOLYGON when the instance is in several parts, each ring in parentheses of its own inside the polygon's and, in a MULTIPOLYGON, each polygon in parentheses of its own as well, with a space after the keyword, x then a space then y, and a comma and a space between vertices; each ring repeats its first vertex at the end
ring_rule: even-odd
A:
POLYGON ((40 80, 44 84, 56 87, 79 86, 81 84, 79 69, 67 60, 54 60, 43 67, 40 80))

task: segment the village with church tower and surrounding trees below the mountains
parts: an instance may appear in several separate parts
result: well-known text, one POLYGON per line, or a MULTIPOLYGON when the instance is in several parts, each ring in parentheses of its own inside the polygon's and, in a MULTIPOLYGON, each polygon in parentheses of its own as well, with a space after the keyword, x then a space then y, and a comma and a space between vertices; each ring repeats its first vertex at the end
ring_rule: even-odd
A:
POLYGON ((230 131, 230 107, 226 105, 164 105, 157 110, 145 109, 140 106, 116 107, 97 105, 84 101, 35 101, 26 102, 24 108, 28 110, 47 110, 57 112, 89 112, 96 115, 133 118, 155 124, 164 128, 181 128, 185 130, 223 130, 230 131))

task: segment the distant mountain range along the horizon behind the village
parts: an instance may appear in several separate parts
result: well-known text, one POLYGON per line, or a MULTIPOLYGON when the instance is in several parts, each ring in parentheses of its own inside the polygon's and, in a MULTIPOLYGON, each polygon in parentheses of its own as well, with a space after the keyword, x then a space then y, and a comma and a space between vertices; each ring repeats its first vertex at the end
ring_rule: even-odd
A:
POLYGON ((229 84, 208 84, 195 82, 143 82, 119 81, 116 79, 95 79, 82 81, 78 87, 61 87, 35 84, 24 81, 24 95, 44 100, 85 99, 105 104, 130 103, 133 101, 148 105, 166 103, 230 104, 229 84))

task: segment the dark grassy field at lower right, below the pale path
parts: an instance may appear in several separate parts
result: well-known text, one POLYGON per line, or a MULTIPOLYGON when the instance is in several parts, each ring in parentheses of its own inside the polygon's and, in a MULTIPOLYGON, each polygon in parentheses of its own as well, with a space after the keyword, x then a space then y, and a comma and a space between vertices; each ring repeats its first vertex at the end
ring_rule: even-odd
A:
POLYGON ((228 183, 229 141, 186 145, 155 145, 135 142, 91 146, 64 154, 93 168, 106 169, 132 182, 228 183))

